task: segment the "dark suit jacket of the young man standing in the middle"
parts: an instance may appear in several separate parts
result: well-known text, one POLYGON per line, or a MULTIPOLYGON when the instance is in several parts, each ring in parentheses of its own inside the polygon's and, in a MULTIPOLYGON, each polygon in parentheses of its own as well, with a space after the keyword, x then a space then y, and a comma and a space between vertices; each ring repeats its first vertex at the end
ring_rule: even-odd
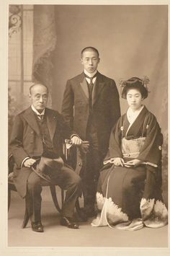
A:
MULTIPOLYGON (((115 81, 98 72, 92 94, 92 105, 99 150, 104 156, 109 145, 112 126, 120 117, 120 101, 115 81)), ((64 120, 86 140, 89 118, 89 92, 84 73, 67 81, 61 111, 64 120)))

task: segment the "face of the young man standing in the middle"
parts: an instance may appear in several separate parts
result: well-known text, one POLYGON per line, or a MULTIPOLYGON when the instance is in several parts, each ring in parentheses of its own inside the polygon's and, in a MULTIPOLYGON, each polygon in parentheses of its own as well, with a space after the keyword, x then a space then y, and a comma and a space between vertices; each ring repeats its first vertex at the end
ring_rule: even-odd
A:
POLYGON ((89 73, 94 73, 97 70, 99 64, 99 56, 93 50, 86 50, 83 53, 81 58, 81 64, 84 66, 84 69, 89 73))

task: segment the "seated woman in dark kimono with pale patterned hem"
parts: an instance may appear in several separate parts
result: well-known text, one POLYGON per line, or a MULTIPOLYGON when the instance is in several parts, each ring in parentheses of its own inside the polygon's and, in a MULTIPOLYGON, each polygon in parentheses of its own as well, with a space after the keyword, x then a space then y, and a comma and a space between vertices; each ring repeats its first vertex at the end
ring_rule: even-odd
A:
POLYGON ((137 230, 167 224, 161 196, 163 136, 156 117, 143 105, 147 81, 133 77, 122 83, 128 111, 112 129, 97 188, 97 219, 92 226, 137 230))

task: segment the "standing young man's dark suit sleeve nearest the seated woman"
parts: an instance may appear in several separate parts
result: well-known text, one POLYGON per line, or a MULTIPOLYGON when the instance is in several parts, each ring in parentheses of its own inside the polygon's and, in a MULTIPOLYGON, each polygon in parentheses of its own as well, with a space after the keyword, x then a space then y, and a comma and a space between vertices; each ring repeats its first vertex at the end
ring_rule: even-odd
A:
POLYGON ((114 80, 112 80, 112 84, 110 86, 109 110, 110 120, 112 120, 113 127, 120 118, 120 96, 114 80))

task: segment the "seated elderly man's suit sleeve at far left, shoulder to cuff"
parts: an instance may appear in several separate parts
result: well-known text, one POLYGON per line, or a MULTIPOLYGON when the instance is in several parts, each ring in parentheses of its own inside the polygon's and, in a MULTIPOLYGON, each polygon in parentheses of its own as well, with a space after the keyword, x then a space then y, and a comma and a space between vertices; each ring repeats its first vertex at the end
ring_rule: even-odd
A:
POLYGON ((19 115, 17 115, 14 120, 14 125, 12 127, 12 134, 9 141, 9 150, 12 152, 12 155, 14 156, 14 161, 19 168, 21 167, 23 160, 29 157, 28 154, 24 151, 22 145, 23 131, 23 121, 19 117, 19 115))

